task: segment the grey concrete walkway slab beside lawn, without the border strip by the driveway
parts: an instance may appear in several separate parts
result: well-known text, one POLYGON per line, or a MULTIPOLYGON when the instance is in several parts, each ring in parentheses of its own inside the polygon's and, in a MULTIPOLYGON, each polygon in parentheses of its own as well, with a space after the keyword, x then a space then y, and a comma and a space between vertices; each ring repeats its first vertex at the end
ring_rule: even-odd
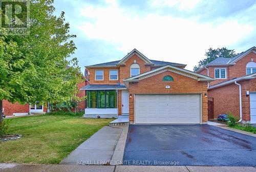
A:
POLYGON ((61 164, 101 165, 111 161, 122 129, 103 127, 80 144, 61 164))

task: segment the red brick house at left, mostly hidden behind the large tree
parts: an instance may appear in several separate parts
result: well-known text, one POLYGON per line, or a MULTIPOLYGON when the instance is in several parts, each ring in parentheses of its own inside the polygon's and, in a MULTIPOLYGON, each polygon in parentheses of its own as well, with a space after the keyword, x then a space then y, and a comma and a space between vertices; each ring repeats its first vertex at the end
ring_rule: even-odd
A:
MULTIPOLYGON (((81 83, 77 84, 78 89, 86 86, 88 84, 88 81, 83 81, 81 83)), ((76 96, 83 97, 85 95, 84 91, 80 91, 76 96)), ((4 108, 4 114, 6 116, 21 116, 21 115, 27 115, 29 113, 46 113, 50 111, 50 105, 47 104, 47 106, 38 106, 38 105, 30 105, 30 104, 19 104, 19 103, 10 103, 6 100, 3 101, 3 108, 4 108)), ((85 101, 79 102, 77 106, 77 111, 84 110, 85 108, 85 101)), ((75 109, 72 109, 72 111, 75 111, 75 109)))

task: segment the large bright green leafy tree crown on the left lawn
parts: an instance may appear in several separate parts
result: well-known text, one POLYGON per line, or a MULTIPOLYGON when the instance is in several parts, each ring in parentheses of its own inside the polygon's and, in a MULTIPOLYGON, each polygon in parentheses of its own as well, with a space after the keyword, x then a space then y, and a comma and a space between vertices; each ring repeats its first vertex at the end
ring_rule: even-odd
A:
POLYGON ((53 1, 30 2, 30 34, 0 37, 0 122, 3 100, 20 104, 65 102, 81 82, 75 35, 64 12, 53 15, 53 1), (71 67, 67 67, 67 66, 71 67))

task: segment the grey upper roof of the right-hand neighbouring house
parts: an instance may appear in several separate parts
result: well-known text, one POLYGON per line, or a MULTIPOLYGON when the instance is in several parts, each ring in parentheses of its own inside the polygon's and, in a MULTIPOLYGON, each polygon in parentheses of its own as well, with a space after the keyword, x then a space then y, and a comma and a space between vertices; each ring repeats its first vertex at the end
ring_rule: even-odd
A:
POLYGON ((248 55, 250 52, 254 52, 256 54, 256 47, 253 46, 246 50, 245 52, 242 52, 238 54, 237 56, 234 56, 232 58, 226 58, 226 57, 218 57, 215 60, 212 60, 210 63, 207 65, 201 67, 200 69, 197 70, 197 72, 200 72, 201 70, 204 69, 204 67, 207 66, 230 66, 236 64, 236 62, 240 59, 242 59, 244 56, 248 55))

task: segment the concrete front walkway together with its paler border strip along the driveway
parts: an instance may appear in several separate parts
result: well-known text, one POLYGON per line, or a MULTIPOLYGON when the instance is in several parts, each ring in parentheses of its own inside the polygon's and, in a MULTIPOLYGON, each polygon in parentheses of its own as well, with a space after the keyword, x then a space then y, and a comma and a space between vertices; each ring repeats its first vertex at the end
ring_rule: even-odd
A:
POLYGON ((120 164, 127 131, 128 125, 103 127, 63 159, 61 164, 120 164))

